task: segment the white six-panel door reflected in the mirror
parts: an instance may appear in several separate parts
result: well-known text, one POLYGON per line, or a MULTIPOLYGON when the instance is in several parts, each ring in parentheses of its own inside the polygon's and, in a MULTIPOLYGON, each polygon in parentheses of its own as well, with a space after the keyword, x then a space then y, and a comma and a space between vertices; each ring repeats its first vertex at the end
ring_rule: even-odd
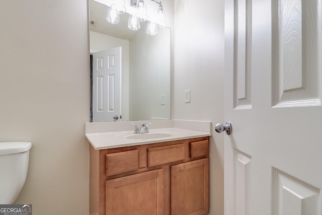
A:
POLYGON ((93 122, 121 118, 122 47, 93 53, 93 122))

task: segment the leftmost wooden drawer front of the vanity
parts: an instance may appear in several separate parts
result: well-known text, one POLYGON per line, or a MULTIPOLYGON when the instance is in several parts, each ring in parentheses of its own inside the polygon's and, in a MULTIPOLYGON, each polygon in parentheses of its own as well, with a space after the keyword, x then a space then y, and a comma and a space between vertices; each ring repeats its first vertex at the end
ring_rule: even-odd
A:
POLYGON ((139 168, 139 151, 112 153, 106 155, 106 175, 116 175, 139 168))

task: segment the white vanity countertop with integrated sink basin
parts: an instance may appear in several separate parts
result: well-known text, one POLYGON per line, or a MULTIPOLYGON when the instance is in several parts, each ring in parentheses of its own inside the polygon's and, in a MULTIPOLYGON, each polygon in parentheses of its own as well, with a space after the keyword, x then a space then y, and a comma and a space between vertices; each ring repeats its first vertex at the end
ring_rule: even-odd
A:
MULTIPOLYGON (((206 127, 210 128, 206 125, 206 127)), ((168 137, 162 138, 144 138, 145 134, 134 134, 133 130, 131 131, 115 131, 115 132, 89 132, 86 133, 87 139, 90 141, 91 145, 95 150, 103 149, 112 149, 118 147, 128 147, 128 146, 137 146, 143 144, 153 144, 155 142, 165 142, 173 141, 180 139, 189 139, 196 137, 211 136, 210 129, 209 132, 201 132, 190 129, 182 129, 176 127, 170 128, 158 128, 158 129, 149 129, 149 135, 153 134, 169 134, 168 137), (140 138, 137 139, 137 135, 140 135, 140 138), (142 138, 141 138, 142 137, 142 138)))

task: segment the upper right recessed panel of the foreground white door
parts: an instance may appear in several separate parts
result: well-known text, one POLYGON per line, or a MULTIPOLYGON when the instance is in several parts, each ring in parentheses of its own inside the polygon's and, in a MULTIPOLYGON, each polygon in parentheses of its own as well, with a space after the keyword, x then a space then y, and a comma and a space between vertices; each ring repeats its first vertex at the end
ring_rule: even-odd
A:
POLYGON ((321 105, 320 1, 272 2, 273 105, 321 105))

